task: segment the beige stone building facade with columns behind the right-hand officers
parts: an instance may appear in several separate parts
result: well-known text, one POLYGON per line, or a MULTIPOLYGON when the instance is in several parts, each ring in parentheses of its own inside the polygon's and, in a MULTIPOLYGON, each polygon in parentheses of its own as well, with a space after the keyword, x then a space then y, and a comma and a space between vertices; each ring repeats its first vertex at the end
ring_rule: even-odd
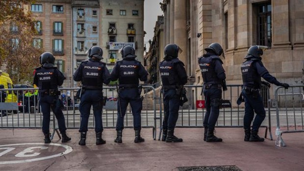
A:
POLYGON ((255 44, 269 47, 262 61, 280 82, 303 84, 304 1, 163 0, 161 8, 164 44, 177 43, 184 51, 179 59, 189 84, 203 84, 197 58, 214 42, 223 46, 228 84, 242 84, 240 65, 255 44))

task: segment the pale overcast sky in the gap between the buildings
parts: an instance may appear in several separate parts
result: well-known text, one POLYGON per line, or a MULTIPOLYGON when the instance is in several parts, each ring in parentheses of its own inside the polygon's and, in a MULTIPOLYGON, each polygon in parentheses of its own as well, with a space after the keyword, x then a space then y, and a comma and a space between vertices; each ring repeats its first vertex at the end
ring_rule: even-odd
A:
MULTIPOLYGON (((162 10, 160 9, 159 2, 163 0, 145 0, 145 19, 144 19, 144 30, 147 32, 145 36, 145 43, 154 36, 154 27, 155 22, 157 20, 157 16, 161 16, 163 14, 162 10)), ((148 45, 147 45, 148 50, 148 45)))

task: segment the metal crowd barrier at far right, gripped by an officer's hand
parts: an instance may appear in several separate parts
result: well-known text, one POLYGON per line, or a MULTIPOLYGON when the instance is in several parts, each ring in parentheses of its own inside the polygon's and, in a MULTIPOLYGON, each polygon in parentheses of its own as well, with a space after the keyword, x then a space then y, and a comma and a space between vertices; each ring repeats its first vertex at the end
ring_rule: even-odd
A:
MULTIPOLYGON (((279 133, 304 132, 304 85, 290 85, 288 89, 279 86, 275 90, 277 128, 279 133)), ((280 146, 286 144, 280 136, 280 146)))

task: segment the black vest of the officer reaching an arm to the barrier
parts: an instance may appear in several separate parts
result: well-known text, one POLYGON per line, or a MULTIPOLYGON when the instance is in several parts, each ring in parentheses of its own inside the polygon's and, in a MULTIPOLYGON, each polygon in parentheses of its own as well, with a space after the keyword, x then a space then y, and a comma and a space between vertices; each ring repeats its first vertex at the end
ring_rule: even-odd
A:
POLYGON ((251 59, 245 61, 241 65, 243 86, 260 88, 261 87, 261 76, 257 73, 254 63, 257 62, 256 59, 251 59))

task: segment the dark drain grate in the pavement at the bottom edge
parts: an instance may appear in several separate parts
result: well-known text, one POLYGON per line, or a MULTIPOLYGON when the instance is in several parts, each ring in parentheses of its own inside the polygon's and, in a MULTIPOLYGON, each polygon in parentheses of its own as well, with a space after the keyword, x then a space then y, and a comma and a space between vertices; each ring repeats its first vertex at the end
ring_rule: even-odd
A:
POLYGON ((193 166, 177 167, 178 171, 242 171, 238 167, 232 166, 193 166))

